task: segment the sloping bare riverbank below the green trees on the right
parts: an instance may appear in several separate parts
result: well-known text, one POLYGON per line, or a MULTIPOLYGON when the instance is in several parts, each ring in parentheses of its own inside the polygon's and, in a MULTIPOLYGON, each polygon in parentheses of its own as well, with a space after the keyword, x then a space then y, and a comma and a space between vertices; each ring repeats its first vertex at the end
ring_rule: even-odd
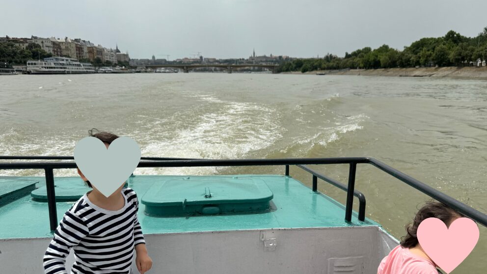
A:
POLYGON ((286 74, 317 74, 325 75, 361 75, 361 76, 393 76, 393 77, 438 77, 459 79, 487 80, 487 67, 428 67, 428 68, 389 68, 389 69, 351 69, 321 70, 301 72, 285 72, 286 74))

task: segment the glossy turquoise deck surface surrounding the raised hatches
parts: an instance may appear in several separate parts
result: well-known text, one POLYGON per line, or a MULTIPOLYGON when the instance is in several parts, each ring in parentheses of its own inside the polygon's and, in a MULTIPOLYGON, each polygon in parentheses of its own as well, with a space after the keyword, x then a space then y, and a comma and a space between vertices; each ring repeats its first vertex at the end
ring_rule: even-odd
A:
MULTIPOLYGON (((144 234, 223 231, 270 228, 301 227, 345 227, 379 226, 371 219, 360 222, 353 212, 352 222, 345 221, 345 207, 335 200, 315 193, 292 177, 280 175, 234 175, 240 178, 262 179, 273 192, 274 211, 258 214, 235 214, 195 217, 157 218, 144 215, 144 205, 140 204, 138 220, 144 234)), ((234 176, 218 176, 232 178, 234 176)), ((167 179, 180 179, 188 176, 137 175, 128 180, 128 186, 137 192, 139 199, 154 183, 167 179)), ((192 179, 208 179, 215 176, 190 176, 192 179)), ((5 177, 3 177, 5 178, 5 177)), ((12 177, 13 178, 13 177, 12 177)), ((15 177, 18 180, 39 180, 38 186, 45 186, 43 177, 15 177)), ((65 177, 66 178, 66 177, 65 177)), ((74 177, 72 177, 74 178, 74 177)), ((54 178, 56 180, 61 178, 54 178)), ((78 177, 79 184, 83 181, 78 177)), ((88 191, 89 189, 86 189, 88 191)), ((57 219, 74 202, 56 202, 57 219)), ((0 239, 52 237, 49 227, 47 202, 33 201, 30 195, 0 207, 0 239)))

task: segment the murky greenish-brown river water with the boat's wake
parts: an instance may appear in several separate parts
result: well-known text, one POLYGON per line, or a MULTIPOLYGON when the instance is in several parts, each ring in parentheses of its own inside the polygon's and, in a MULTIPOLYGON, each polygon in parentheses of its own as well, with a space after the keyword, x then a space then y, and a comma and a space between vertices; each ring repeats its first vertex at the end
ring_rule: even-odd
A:
MULTIPOLYGON (((487 212, 487 81, 237 73, 0 78, 1 155, 71 156, 91 128, 132 137, 142 156, 374 157, 487 212)), ((315 168, 347 182, 348 166, 315 168)), ((135 174, 283 172, 192 167, 135 174)), ((311 184, 296 167, 291 176, 311 184)), ((366 216, 397 238, 428 199, 365 164, 357 168, 356 189, 367 198, 366 216)), ((319 190, 345 202, 345 192, 324 182, 319 190)), ((485 273, 487 229, 479 228, 479 243, 452 273, 485 273)))

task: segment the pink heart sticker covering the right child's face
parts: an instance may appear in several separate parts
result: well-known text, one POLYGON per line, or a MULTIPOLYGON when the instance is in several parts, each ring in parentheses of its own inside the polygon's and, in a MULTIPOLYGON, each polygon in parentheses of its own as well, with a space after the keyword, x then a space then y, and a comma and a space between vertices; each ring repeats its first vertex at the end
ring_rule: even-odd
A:
POLYGON ((452 272, 479 241, 479 228, 468 218, 459 218, 450 228, 437 218, 424 219, 418 226, 418 242, 426 254, 446 273, 452 272))

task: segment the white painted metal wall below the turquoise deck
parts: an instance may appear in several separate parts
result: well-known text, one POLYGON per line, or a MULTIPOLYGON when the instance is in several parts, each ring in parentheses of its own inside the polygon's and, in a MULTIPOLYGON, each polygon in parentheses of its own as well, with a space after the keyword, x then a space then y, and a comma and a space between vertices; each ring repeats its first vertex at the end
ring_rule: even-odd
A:
MULTIPOLYGON (((143 229, 143 227, 142 227, 143 229)), ((150 273, 376 274, 397 240, 377 226, 208 231, 144 235, 150 273), (265 250, 264 239, 275 239, 265 250)), ((51 238, 0 240, 2 273, 44 273, 51 238)), ((67 269, 74 262, 73 250, 67 269)), ((138 273, 133 263, 134 273, 138 273)), ((69 273, 69 272, 68 272, 69 273)))

